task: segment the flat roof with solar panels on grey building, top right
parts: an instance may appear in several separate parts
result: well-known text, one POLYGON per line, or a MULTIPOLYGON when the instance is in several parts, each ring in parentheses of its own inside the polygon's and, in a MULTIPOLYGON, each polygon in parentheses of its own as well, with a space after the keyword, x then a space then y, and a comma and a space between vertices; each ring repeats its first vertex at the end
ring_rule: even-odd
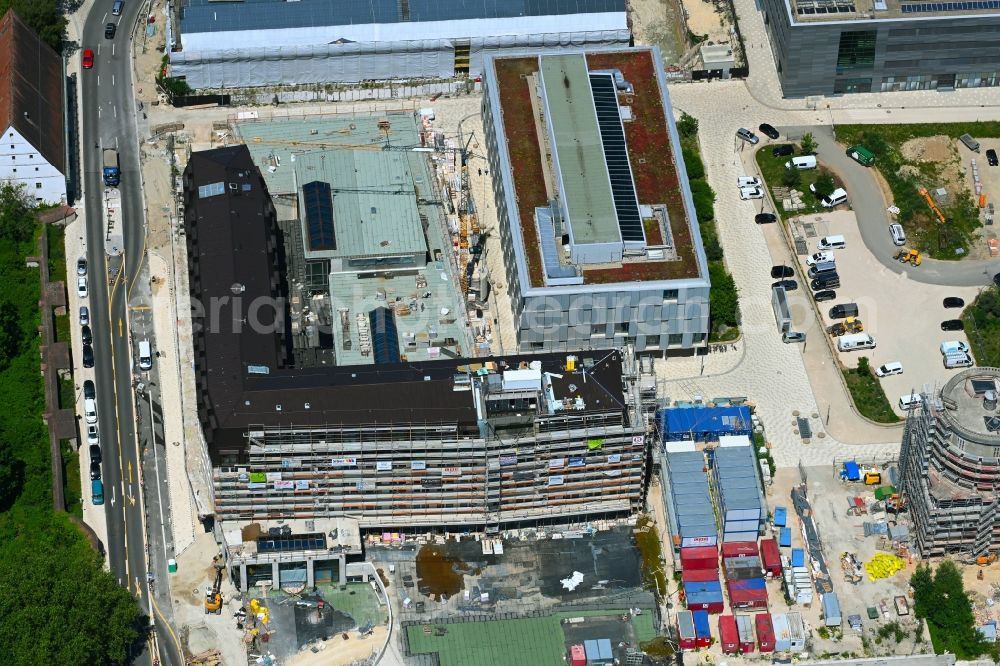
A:
POLYGON ((1000 0, 785 0, 796 23, 962 18, 1000 13, 1000 0))

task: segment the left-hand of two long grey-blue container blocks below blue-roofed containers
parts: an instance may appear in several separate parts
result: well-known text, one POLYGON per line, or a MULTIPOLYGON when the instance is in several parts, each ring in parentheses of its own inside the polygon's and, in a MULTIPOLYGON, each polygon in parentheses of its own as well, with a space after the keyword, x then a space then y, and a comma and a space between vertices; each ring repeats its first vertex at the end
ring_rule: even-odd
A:
POLYGON ((692 442, 666 442, 663 450, 664 480, 670 491, 665 504, 675 545, 714 546, 718 532, 705 455, 695 451, 692 442))

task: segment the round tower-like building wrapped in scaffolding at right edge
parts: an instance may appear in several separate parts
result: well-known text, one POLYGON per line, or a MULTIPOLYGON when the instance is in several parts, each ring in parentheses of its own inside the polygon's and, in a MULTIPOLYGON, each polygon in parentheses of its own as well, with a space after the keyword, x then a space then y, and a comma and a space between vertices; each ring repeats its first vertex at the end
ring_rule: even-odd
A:
POLYGON ((1000 549, 998 391, 1000 369, 965 370, 906 419, 899 490, 924 557, 1000 549))

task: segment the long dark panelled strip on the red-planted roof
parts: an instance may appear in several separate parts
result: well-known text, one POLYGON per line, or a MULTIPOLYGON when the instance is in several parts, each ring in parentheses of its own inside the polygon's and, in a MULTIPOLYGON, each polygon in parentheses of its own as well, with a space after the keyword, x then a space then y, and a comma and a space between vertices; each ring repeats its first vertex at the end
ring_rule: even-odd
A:
POLYGON ((604 159, 611 178, 611 196, 618 214, 618 229, 622 233, 622 240, 642 242, 646 236, 642 231, 635 183, 628 163, 625 130, 622 129, 614 79, 610 74, 591 74, 590 88, 594 97, 594 109, 597 111, 597 125, 601 129, 604 159))

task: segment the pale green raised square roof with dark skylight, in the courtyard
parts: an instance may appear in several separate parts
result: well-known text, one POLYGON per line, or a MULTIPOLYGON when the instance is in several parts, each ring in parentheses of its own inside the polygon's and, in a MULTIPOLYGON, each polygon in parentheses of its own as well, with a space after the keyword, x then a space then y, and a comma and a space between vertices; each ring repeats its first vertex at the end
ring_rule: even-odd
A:
MULTIPOLYGON (((295 176, 303 186, 327 183, 332 200, 333 249, 310 248, 310 220, 300 203, 306 257, 379 257, 427 251, 406 149, 325 150, 299 155, 295 176)), ((324 196, 327 196, 324 193, 324 196)), ((300 202, 302 202, 300 198, 300 202)))

